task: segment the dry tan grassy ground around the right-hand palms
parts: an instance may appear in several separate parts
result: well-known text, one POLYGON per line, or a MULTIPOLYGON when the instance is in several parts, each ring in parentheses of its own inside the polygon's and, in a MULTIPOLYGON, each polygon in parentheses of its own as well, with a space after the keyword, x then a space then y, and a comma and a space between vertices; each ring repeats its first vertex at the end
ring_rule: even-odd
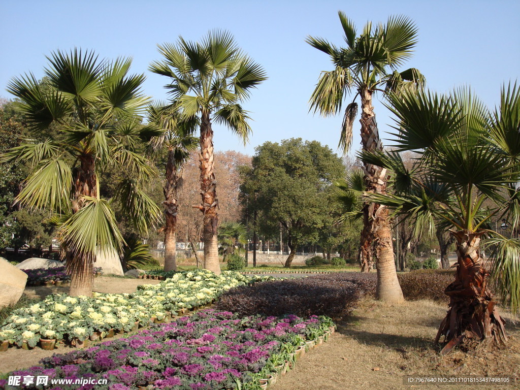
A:
MULTIPOLYGON (((433 339, 444 305, 431 301, 392 306, 364 300, 341 321, 330 342, 298 361, 274 390, 514 389, 520 388, 520 324, 509 323, 508 348, 499 355, 453 352, 440 357, 433 339), (514 385, 411 385, 408 376, 515 376, 514 385)), ((505 318, 510 318, 504 315, 505 318)))

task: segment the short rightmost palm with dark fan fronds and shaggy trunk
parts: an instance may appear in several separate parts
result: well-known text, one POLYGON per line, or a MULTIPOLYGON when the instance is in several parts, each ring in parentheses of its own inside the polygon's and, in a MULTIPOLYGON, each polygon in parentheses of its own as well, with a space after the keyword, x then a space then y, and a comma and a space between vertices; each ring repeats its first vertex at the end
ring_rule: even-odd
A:
POLYGON ((448 314, 435 339, 445 336, 441 354, 464 339, 505 342, 487 266, 499 281, 502 297, 517 310, 520 242, 492 231, 489 222, 508 213, 518 221, 520 90, 516 85, 503 89, 500 109, 494 114, 466 90, 449 97, 404 93, 391 95, 389 101, 397 117, 398 151, 414 150, 421 157, 408 171, 397 153, 363 152, 365 163, 393 171, 403 189, 370 198, 411 218, 421 230, 451 227, 458 259, 455 280, 445 290, 450 297, 448 314), (483 261, 480 251, 486 236, 498 248, 491 264, 483 261))

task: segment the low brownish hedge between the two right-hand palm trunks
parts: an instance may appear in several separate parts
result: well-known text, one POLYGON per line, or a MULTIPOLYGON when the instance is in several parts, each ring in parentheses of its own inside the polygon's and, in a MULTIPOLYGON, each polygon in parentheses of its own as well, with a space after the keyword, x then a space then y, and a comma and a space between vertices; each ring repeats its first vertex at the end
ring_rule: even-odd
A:
POLYGON ((402 294, 407 300, 430 299, 448 302, 444 293, 448 284, 453 281, 452 269, 419 269, 397 274, 402 294))

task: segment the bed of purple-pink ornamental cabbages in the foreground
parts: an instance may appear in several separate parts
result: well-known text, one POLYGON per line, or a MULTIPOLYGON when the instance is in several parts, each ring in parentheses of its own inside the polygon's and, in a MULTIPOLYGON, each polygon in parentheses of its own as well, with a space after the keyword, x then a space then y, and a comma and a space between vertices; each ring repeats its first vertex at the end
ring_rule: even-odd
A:
MULTIPOLYGON (((89 349, 54 355, 42 366, 9 375, 48 375, 50 379, 107 379, 101 390, 260 389, 262 379, 276 378, 292 364, 308 340, 319 343, 333 326, 330 318, 251 316, 203 310, 192 317, 155 325, 149 330, 89 349), (274 374, 274 375, 273 375, 274 374)), ((308 342, 313 343, 313 342, 308 342)), ((0 380, 0 386, 5 385, 0 380)), ((34 385, 21 388, 36 388, 34 385)), ((91 389, 94 385, 53 385, 54 390, 91 389)), ((38 387, 42 388, 42 387, 38 387)))

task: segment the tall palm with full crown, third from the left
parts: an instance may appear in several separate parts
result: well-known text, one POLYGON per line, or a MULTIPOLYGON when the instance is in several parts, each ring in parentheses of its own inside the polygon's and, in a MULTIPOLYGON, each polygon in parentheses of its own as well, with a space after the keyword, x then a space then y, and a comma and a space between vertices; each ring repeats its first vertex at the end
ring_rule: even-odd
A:
POLYGON ((202 42, 179 37, 176 45, 158 47, 164 60, 153 62, 150 70, 171 77, 166 88, 173 105, 185 119, 197 116, 200 120, 202 204, 193 207, 204 214, 204 268, 220 274, 212 121, 229 127, 245 143, 251 132, 250 118, 240 103, 249 98, 252 88, 266 80, 266 75, 225 31, 210 31, 202 42))

